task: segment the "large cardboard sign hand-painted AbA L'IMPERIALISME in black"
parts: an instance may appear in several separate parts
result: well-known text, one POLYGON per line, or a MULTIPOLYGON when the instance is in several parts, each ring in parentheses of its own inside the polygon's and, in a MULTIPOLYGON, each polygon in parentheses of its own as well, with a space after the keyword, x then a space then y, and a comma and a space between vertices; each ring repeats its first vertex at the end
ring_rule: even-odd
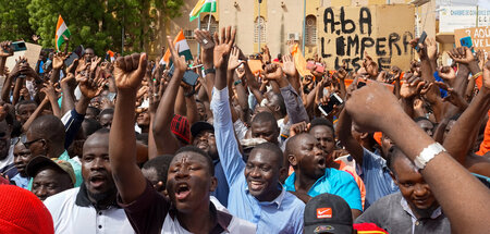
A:
POLYGON ((364 52, 382 69, 408 70, 414 52, 414 7, 408 4, 320 8, 319 54, 329 70, 346 62, 347 70, 363 64, 364 52))

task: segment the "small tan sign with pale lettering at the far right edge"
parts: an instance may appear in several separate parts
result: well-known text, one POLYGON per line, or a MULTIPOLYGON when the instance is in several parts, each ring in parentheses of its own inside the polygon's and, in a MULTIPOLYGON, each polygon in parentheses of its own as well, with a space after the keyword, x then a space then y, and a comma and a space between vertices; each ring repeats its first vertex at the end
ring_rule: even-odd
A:
POLYGON ((483 50, 485 58, 488 57, 490 52, 490 26, 455 29, 454 41, 456 42, 456 47, 461 47, 461 39, 466 37, 471 38, 470 46, 474 47, 475 51, 483 50))

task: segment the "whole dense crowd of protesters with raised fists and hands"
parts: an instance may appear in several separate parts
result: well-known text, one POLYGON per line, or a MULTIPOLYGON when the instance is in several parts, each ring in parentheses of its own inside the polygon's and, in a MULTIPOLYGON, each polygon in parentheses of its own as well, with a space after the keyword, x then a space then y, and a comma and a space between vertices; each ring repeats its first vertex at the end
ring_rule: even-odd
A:
POLYGON ((490 231, 490 58, 441 66, 417 38, 407 71, 326 71, 194 33, 171 64, 87 48, 9 71, 0 44, 0 233, 490 231))

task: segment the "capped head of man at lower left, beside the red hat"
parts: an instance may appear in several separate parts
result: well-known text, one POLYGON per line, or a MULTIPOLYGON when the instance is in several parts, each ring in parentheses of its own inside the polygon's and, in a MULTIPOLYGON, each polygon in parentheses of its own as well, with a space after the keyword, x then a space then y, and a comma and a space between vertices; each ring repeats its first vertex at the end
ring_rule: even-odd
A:
POLYGON ((33 177, 33 193, 40 200, 73 188, 76 180, 70 162, 45 156, 32 159, 26 171, 33 177))

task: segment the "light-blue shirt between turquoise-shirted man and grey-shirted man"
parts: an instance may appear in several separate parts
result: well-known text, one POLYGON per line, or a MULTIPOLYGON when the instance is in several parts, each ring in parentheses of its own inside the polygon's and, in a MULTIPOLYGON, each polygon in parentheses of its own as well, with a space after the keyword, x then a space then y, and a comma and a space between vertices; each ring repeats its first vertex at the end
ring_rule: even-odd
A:
POLYGON ((365 208, 368 208, 379 198, 400 190, 391 178, 387 160, 381 156, 364 149, 362 170, 360 177, 366 186, 365 208))

